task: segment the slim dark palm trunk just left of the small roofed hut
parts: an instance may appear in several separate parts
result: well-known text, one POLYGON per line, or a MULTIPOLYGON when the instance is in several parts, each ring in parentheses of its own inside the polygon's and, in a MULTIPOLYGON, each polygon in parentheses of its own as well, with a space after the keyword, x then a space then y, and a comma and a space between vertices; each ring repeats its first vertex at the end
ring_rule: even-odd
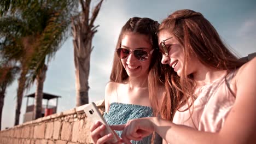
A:
POLYGON ((18 83, 14 125, 18 125, 19 121, 20 121, 20 108, 21 108, 23 92, 24 92, 24 88, 25 88, 26 74, 27 74, 27 70, 22 69, 21 75, 19 78, 19 83, 18 83))

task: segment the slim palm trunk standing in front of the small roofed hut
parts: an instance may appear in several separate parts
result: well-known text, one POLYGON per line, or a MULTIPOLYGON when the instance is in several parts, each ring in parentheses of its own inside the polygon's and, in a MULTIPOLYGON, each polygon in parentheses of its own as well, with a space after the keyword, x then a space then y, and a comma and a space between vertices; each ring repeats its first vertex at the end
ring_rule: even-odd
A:
POLYGON ((46 77, 47 66, 44 64, 43 68, 40 70, 37 75, 37 89, 34 96, 34 119, 42 117, 42 99, 43 99, 43 89, 44 89, 44 80, 46 77))

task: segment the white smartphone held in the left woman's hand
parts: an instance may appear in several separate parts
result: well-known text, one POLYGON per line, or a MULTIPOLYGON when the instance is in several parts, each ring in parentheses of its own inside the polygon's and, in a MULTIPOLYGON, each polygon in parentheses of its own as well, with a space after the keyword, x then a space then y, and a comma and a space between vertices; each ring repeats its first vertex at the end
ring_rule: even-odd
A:
POLYGON ((107 134, 112 134, 113 139, 110 139, 107 141, 107 143, 116 143, 118 142, 117 136, 114 134, 113 130, 109 127, 103 116, 101 115, 101 112, 98 111, 97 106, 95 105, 94 102, 89 103, 88 105, 85 106, 84 112, 87 116, 88 119, 92 123, 95 123, 96 121, 100 121, 102 124, 106 125, 106 128, 104 129, 103 133, 101 133, 101 136, 107 135, 107 134))

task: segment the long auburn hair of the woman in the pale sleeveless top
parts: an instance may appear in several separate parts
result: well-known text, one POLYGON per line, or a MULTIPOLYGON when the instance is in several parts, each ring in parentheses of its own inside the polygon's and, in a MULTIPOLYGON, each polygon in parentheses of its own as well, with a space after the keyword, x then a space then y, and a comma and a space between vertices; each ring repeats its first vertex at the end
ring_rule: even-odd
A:
POLYGON ((199 61, 219 70, 230 71, 241 67, 243 62, 232 54, 224 45, 216 29, 203 17, 201 13, 189 9, 177 10, 162 21, 159 32, 165 30, 170 32, 184 48, 184 68, 182 75, 166 75, 166 88, 172 89, 176 98, 174 108, 178 110, 184 104, 193 104, 196 83, 193 75, 187 75, 188 58, 195 56, 199 61))

